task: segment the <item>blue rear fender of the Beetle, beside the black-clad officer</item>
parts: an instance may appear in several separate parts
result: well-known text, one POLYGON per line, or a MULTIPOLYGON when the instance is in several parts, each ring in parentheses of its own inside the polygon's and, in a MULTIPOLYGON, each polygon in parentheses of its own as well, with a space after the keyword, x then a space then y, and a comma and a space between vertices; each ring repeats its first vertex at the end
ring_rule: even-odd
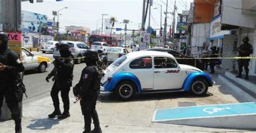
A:
POLYGON ((131 80, 134 84, 136 84, 138 93, 142 93, 142 87, 140 85, 139 79, 129 72, 120 72, 113 75, 110 82, 106 82, 103 85, 104 91, 113 91, 117 84, 122 82, 123 80, 131 80))

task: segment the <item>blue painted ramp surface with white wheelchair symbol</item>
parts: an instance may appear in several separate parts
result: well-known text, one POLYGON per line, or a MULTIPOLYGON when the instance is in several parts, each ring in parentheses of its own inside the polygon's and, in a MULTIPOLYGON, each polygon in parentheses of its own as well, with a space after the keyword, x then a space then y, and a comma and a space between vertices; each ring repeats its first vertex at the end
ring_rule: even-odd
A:
POLYGON ((256 102, 156 109, 153 121, 256 114, 256 102))

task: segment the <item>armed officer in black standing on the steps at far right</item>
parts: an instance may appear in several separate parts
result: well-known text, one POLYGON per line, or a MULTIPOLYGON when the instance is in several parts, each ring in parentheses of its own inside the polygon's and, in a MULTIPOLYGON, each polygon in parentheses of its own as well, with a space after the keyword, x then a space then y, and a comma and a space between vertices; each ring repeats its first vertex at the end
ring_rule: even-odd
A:
MULTIPOLYGON (((244 44, 240 45, 240 47, 237 48, 237 51, 239 53, 239 57, 250 56, 250 54, 253 53, 253 47, 250 43, 248 43, 249 38, 246 36, 244 39, 242 39, 242 42, 244 42, 244 44)), ((244 67, 245 68, 245 79, 249 79, 249 77, 248 77, 249 62, 250 62, 250 59, 239 59, 238 60, 239 74, 238 74, 237 78, 242 77, 242 67, 244 67)))

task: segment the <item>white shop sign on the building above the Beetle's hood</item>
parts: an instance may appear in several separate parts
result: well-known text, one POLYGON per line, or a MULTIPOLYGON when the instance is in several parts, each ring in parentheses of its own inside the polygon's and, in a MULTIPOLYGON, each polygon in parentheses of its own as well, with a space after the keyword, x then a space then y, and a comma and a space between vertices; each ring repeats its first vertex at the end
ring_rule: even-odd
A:
POLYGON ((210 40, 213 38, 217 38, 219 36, 223 36, 225 34, 230 34, 230 31, 221 31, 220 20, 221 20, 221 17, 211 22, 210 40))

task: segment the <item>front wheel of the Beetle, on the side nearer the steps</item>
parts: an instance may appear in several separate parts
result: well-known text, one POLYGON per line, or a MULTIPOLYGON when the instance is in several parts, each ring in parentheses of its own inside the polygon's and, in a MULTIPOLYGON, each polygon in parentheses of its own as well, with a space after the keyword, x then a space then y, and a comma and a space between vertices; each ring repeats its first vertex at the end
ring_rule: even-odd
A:
POLYGON ((190 91, 194 95, 204 95, 208 91, 208 83, 205 79, 198 78, 194 80, 191 85, 190 91))

